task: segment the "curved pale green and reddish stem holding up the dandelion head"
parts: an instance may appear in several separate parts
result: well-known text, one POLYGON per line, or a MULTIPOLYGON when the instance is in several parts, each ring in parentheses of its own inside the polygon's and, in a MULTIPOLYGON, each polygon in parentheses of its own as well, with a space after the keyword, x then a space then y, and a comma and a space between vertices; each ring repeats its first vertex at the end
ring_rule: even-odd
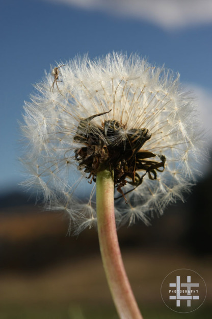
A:
POLYGON ((114 214, 114 174, 109 169, 97 173, 96 206, 102 262, 119 317, 142 319, 119 248, 114 214))

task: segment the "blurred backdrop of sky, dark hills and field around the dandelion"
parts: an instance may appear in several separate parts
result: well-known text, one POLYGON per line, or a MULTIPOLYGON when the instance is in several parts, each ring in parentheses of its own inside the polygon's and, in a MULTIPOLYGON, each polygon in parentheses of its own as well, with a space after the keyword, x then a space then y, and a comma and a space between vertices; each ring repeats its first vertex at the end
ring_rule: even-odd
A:
MULTIPOLYGON (((43 212, 23 180, 21 120, 24 100, 50 65, 76 55, 138 53, 179 71, 193 90, 212 144, 212 3, 210 0, 2 0, 0 319, 117 318, 104 277, 95 229, 67 235, 62 213, 43 212)), ((185 203, 169 206, 152 226, 118 231, 123 260, 145 319, 182 318, 161 298, 164 278, 178 268, 199 273, 204 304, 187 318, 211 318, 212 162, 185 203)))

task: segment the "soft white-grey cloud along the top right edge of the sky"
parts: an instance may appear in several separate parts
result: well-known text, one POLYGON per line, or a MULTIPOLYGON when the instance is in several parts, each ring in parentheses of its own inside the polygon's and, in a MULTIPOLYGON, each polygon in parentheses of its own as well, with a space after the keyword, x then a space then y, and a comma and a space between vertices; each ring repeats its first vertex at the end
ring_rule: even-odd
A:
POLYGON ((151 21, 164 29, 212 23, 212 0, 48 0, 151 21))

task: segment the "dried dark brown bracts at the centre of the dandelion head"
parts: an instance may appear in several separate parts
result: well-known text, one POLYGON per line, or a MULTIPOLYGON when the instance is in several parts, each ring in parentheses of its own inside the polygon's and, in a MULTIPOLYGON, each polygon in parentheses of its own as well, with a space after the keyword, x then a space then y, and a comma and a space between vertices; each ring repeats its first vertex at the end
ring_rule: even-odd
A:
POLYGON ((94 117, 109 112, 81 119, 73 139, 85 146, 75 150, 75 158, 79 169, 90 173, 88 176, 91 178, 90 183, 96 182, 96 174, 102 167, 114 170, 115 187, 127 203, 122 187, 128 183, 135 189, 141 185, 146 174, 151 180, 157 179, 156 171, 164 170, 166 157, 142 150, 144 143, 151 138, 151 134, 145 128, 128 130, 125 137, 121 138, 125 125, 121 125, 120 122, 106 120, 102 127, 91 122, 94 117), (152 157, 157 157, 160 161, 149 160, 152 157), (142 170, 145 173, 140 175, 138 171, 142 170))

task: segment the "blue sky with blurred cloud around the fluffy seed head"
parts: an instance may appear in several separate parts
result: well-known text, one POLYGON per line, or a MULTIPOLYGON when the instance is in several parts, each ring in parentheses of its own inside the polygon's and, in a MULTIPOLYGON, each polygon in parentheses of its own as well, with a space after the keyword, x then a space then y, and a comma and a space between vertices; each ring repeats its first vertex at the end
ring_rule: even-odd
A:
MULTIPOLYGON (((158 0, 157 4, 160 2, 164 3, 158 0)), ((172 2, 176 5, 175 0, 172 2)), ((23 179, 17 120, 21 120, 24 100, 30 99, 32 84, 39 82, 44 70, 50 71, 55 61, 65 62, 86 53, 94 58, 111 51, 136 52, 149 62, 179 71, 181 81, 194 89, 205 126, 209 128, 212 121, 212 16, 207 14, 211 9, 207 8, 207 0, 201 2, 201 10, 194 6, 193 11, 189 6, 183 10, 183 2, 178 2, 182 12, 192 11, 188 17, 185 13, 184 20, 178 18, 182 15, 176 7, 163 10, 164 16, 154 6, 155 15, 149 16, 145 7, 143 16, 142 6, 128 14, 124 0, 79 0, 78 6, 74 3, 1 2, 1 192, 15 188, 23 179)), ((138 6, 136 0, 130 3, 132 8, 134 3, 138 6)), ((192 6, 190 0, 184 1, 189 3, 192 6)))

